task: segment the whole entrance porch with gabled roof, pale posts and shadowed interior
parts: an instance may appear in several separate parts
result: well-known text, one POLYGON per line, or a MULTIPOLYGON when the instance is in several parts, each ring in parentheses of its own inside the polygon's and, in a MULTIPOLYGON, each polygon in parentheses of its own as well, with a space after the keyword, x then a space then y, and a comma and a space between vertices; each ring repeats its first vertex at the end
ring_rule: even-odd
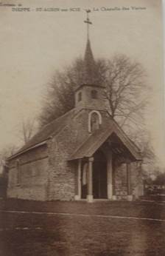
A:
POLYGON ((76 164, 76 201, 133 200, 131 164, 141 169, 141 154, 116 124, 90 135, 69 160, 76 164))

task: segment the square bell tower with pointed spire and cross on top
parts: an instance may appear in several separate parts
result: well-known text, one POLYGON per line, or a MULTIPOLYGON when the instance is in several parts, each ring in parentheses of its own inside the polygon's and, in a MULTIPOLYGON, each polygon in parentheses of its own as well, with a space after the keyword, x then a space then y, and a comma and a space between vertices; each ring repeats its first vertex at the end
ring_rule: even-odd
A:
POLYGON ((105 99, 105 87, 94 82, 96 80, 97 68, 89 39, 89 25, 92 24, 88 17, 90 12, 90 10, 86 10, 87 19, 84 21, 87 24, 87 43, 83 61, 85 83, 77 87, 75 91, 75 107, 89 110, 108 110, 108 103, 105 99))

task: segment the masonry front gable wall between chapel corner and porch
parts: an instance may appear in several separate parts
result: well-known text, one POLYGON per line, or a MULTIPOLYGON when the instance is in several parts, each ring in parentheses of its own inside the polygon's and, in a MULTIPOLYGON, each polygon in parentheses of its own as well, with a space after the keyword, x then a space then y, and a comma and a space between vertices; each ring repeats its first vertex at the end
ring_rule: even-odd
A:
POLYGON ((49 200, 74 200, 77 192, 77 161, 68 159, 88 135, 88 113, 82 111, 49 141, 49 200))

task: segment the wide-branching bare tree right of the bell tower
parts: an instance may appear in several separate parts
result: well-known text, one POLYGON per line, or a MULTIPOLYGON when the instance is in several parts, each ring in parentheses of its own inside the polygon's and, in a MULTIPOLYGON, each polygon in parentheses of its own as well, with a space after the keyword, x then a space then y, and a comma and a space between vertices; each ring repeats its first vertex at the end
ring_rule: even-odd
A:
POLYGON ((106 92, 110 114, 121 127, 141 127, 147 106, 144 68, 125 55, 115 55, 107 63, 106 92))

